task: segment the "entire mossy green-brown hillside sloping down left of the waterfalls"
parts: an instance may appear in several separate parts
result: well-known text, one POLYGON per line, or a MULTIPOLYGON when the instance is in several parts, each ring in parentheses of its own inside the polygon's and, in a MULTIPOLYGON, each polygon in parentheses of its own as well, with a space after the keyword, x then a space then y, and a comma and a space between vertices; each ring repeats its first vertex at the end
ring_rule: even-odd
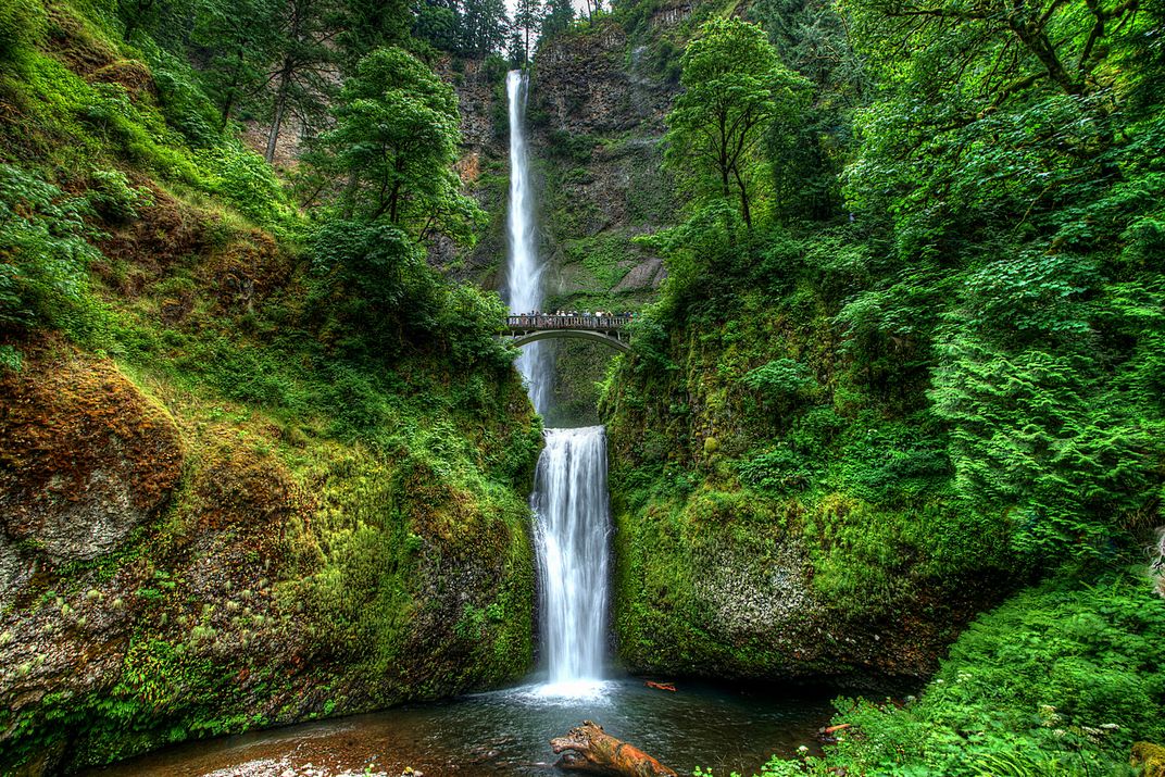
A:
POLYGON ((0 771, 525 672, 496 298, 422 262, 361 302, 184 58, 113 5, 0 20, 0 771))

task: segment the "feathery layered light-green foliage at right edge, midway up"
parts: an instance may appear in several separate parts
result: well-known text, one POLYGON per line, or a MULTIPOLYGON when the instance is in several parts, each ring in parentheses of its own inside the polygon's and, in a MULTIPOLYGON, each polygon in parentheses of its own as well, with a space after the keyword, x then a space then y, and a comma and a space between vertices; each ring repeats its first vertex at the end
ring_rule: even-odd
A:
POLYGON ((1155 499, 1144 421, 1103 389, 1083 354, 1004 354, 966 340, 946 354, 933 400, 954 424, 955 487, 970 508, 1010 511, 1028 558, 1110 551, 1113 516, 1155 499))

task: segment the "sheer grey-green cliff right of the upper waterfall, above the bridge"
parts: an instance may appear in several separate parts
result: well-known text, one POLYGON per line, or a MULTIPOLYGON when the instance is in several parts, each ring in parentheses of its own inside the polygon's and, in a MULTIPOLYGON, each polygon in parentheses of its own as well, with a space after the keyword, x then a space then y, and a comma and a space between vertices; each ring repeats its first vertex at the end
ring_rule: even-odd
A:
POLYGON ((658 260, 630 239, 675 218, 661 141, 676 91, 647 47, 609 17, 539 49, 531 122, 544 161, 545 249, 557 270, 549 291, 557 301, 630 295, 626 302, 638 304, 634 292, 661 280, 658 260))

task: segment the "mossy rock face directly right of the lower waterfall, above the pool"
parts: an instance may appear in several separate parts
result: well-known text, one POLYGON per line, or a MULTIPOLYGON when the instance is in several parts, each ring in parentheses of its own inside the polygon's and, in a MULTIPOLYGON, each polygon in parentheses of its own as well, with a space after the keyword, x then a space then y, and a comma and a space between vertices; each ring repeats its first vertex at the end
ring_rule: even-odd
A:
MULTIPOLYGON (((619 474, 614 482, 626 489, 619 474)), ((802 534, 735 496, 714 496, 728 502, 719 515, 699 515, 698 499, 665 515, 666 502, 634 509, 616 490, 616 638, 630 671, 882 688, 931 674, 1000 593, 993 580, 934 581, 909 602, 869 591, 856 596, 881 614, 855 616, 853 601, 814 585, 802 534)))

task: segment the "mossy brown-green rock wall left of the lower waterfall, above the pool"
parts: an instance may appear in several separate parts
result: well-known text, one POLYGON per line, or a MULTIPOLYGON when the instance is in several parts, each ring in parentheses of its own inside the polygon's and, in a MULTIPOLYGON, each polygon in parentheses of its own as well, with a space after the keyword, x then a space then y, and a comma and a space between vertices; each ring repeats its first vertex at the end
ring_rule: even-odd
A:
MULTIPOLYGON (((0 772, 529 667, 517 493, 497 502, 361 446, 289 445, 249 411, 207 422, 108 359, 23 349, 23 370, 0 376, 0 772)), ((502 390, 521 407, 516 381, 502 390)))

